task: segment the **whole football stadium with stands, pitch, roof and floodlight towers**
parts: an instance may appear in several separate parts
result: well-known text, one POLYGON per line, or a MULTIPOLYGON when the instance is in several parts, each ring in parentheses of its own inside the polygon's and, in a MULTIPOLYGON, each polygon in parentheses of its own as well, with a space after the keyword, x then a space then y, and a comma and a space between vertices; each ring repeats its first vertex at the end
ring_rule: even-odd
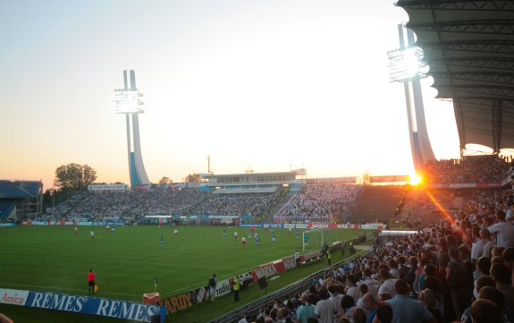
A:
POLYGON ((209 166, 194 180, 150 183, 142 95, 125 71, 114 100, 130 184, 58 194, 0 180, 0 321, 513 321, 514 4, 395 5, 410 20, 390 64, 423 51, 437 98, 453 104, 459 158, 434 157, 421 72, 393 66, 417 180, 209 166))

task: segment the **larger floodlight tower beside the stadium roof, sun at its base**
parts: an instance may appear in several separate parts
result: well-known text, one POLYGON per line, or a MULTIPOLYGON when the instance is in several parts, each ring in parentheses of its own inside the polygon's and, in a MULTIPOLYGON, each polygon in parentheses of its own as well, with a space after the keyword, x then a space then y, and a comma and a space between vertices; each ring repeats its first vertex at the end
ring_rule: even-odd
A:
POLYGON ((403 82, 405 101, 407 104, 407 118, 409 123, 410 149, 416 173, 423 173, 425 163, 434 160, 434 151, 426 130, 425 109, 421 93, 422 77, 426 63, 422 61, 423 51, 414 46, 414 32, 398 25, 400 49, 387 53, 389 57, 390 81, 403 82), (407 30, 407 43, 404 30, 407 30))

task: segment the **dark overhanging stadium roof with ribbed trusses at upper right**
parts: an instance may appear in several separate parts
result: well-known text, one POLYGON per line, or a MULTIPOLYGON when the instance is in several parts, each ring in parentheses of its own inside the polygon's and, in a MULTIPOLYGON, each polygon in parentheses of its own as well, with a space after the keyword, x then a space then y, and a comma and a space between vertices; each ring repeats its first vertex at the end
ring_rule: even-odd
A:
POLYGON ((453 102, 460 148, 514 148, 514 1, 399 0, 434 77, 453 102))

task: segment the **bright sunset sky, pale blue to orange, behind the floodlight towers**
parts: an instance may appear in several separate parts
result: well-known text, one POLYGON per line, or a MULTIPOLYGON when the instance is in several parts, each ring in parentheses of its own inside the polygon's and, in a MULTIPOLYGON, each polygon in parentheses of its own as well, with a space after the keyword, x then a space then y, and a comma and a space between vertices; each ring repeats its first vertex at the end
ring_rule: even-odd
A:
MULTIPOLYGON (((0 2, 0 179, 87 164, 130 183, 114 89, 133 69, 148 178, 412 174, 403 85, 387 75, 392 1, 0 2)), ((451 103, 422 81, 435 157, 459 157, 451 103)))

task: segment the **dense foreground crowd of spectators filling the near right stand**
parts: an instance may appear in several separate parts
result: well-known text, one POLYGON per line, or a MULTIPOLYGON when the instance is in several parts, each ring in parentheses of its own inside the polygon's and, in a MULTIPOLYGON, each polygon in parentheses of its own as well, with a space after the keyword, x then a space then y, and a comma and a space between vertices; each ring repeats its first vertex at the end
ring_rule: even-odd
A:
POLYGON ((417 234, 376 239, 305 293, 239 322, 514 322, 514 201, 476 191, 417 234))

